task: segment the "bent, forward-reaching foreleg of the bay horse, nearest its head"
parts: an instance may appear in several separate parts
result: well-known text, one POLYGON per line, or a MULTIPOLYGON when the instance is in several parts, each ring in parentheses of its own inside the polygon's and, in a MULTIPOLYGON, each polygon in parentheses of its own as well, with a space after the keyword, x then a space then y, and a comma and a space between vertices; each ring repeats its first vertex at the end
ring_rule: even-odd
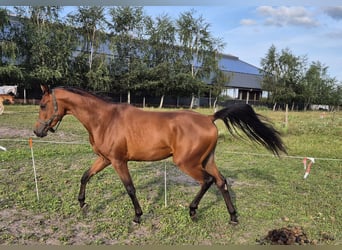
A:
POLYGON ((86 207, 85 203, 85 191, 88 181, 92 176, 94 176, 96 173, 100 172, 102 169, 107 167, 109 165, 109 161, 103 159, 102 157, 99 157, 95 160, 93 165, 84 172, 81 178, 81 186, 80 186, 80 192, 78 195, 78 201, 80 203, 80 207, 84 209, 86 207))

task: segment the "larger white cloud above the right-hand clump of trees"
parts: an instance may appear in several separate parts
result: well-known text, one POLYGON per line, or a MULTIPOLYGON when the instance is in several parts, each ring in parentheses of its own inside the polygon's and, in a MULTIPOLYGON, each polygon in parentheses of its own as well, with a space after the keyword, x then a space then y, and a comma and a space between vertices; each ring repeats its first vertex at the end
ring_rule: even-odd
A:
POLYGON ((316 27, 319 25, 318 21, 310 14, 304 7, 272 7, 260 6, 257 12, 264 16, 265 25, 271 26, 303 26, 316 27))

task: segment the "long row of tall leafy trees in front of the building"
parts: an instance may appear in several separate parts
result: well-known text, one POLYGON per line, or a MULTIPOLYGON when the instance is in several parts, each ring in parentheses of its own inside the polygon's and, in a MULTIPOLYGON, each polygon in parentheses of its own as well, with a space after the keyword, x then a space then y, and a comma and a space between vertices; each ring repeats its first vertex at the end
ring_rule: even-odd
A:
MULTIPOLYGON (((167 15, 152 19, 142 7, 82 6, 64 21, 60 7, 19 6, 15 12, 20 24, 11 26, 13 39, 5 39, 0 48, 22 71, 27 88, 45 82, 93 91, 189 96, 218 69, 217 54, 224 46, 194 11, 172 20, 167 15)), ((0 27, 9 24, 2 16, 0 27)), ((0 35, 5 35, 3 29, 0 35)))

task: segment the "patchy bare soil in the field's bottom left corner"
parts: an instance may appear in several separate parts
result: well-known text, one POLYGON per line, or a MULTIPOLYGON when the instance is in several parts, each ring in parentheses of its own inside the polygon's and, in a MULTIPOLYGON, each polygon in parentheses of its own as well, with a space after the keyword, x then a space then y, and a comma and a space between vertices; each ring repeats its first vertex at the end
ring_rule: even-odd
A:
POLYGON ((50 218, 16 209, 0 210, 0 245, 86 245, 97 241, 117 244, 104 233, 92 234, 92 225, 65 218, 50 218))

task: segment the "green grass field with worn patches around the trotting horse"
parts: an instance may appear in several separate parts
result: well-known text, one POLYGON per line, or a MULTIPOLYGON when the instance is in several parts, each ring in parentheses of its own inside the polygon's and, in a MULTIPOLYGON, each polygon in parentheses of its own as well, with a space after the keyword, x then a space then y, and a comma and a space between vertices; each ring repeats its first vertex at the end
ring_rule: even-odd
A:
POLYGON ((261 146, 232 137, 223 123, 217 123, 216 162, 232 183, 239 225, 228 224, 215 186, 192 221, 188 204, 199 185, 171 160, 129 164, 144 211, 142 223, 136 225, 131 201, 111 167, 91 179, 88 213, 80 211, 80 178, 95 155, 87 132, 74 117, 66 116, 57 133, 39 139, 32 133, 37 106, 5 106, 0 116, 0 146, 7 148, 0 151, 0 244, 256 245, 270 230, 292 225, 302 227, 314 244, 341 245, 342 113, 321 117, 321 112, 290 112, 284 128, 283 112, 257 112, 283 133, 289 156, 273 157, 261 146), (305 180, 303 157, 315 158, 305 180))

